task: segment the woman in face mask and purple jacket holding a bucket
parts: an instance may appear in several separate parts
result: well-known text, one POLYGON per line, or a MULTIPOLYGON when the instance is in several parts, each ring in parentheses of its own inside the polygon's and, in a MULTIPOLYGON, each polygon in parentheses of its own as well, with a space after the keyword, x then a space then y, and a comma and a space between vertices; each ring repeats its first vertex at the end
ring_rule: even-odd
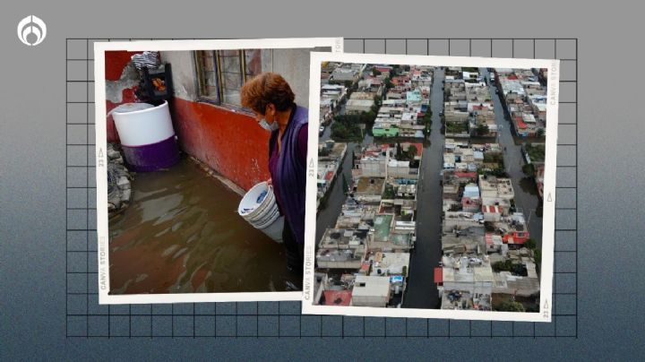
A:
POLYGON ((242 107, 254 111, 259 125, 271 131, 269 183, 284 215, 282 240, 289 271, 302 274, 305 246, 305 175, 307 108, 298 107, 288 82, 277 73, 261 73, 241 90, 242 107))

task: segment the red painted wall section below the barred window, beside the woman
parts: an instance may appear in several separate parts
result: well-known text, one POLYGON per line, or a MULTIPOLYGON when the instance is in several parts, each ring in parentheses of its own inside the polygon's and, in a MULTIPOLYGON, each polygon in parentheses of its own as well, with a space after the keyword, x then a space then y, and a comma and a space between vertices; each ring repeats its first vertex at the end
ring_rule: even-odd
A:
POLYGON ((173 99, 170 111, 186 153, 245 190, 270 177, 270 133, 253 116, 180 98, 173 99))

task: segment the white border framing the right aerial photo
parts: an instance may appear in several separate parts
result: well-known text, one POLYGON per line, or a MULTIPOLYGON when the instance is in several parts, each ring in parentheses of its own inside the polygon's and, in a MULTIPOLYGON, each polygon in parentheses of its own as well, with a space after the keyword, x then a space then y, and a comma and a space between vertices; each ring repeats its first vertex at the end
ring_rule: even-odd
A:
MULTIPOLYGON (((560 61, 556 59, 520 59, 477 56, 408 56, 384 54, 311 53, 309 67, 309 155, 307 194, 305 198, 305 271, 303 280, 303 315, 359 315, 378 317, 441 318, 457 320, 551 322, 553 310, 553 274, 555 244, 555 171, 560 90, 560 61), (542 264, 540 278, 540 309, 530 312, 495 312, 417 308, 378 308, 370 306, 314 306, 312 304, 315 265, 316 230, 316 169, 318 167, 318 127, 320 126, 321 66, 323 62, 384 65, 475 66, 487 68, 548 69, 546 122, 545 179, 542 225, 542 264), (547 199, 551 201, 546 201, 547 199)), ((428 287, 430 288, 430 286, 428 287)))

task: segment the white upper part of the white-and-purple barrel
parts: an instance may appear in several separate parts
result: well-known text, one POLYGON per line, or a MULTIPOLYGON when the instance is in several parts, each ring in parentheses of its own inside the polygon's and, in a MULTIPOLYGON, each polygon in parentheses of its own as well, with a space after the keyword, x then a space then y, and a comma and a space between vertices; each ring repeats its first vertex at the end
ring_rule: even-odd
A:
POLYGON ((121 144, 144 146, 175 135, 168 101, 157 107, 148 103, 125 103, 112 109, 121 144))

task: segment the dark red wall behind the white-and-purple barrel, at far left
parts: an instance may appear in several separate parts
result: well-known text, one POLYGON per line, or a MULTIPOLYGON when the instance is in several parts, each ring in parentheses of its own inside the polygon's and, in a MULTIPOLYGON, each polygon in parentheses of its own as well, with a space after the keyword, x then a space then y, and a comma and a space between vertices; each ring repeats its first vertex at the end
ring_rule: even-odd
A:
MULTIPOLYGON (((128 65, 131 56, 142 52, 126 52, 123 50, 106 51, 105 52, 105 69, 106 69, 106 82, 116 82, 121 79, 121 74, 124 71, 125 65, 128 65)), ((136 101, 134 91, 136 86, 132 88, 124 88, 122 91, 121 103, 114 103, 106 100, 106 112, 109 113, 112 109, 124 103, 131 103, 136 101)), ((120 142, 118 134, 116 133, 116 126, 112 116, 107 116, 107 142, 120 142)))

